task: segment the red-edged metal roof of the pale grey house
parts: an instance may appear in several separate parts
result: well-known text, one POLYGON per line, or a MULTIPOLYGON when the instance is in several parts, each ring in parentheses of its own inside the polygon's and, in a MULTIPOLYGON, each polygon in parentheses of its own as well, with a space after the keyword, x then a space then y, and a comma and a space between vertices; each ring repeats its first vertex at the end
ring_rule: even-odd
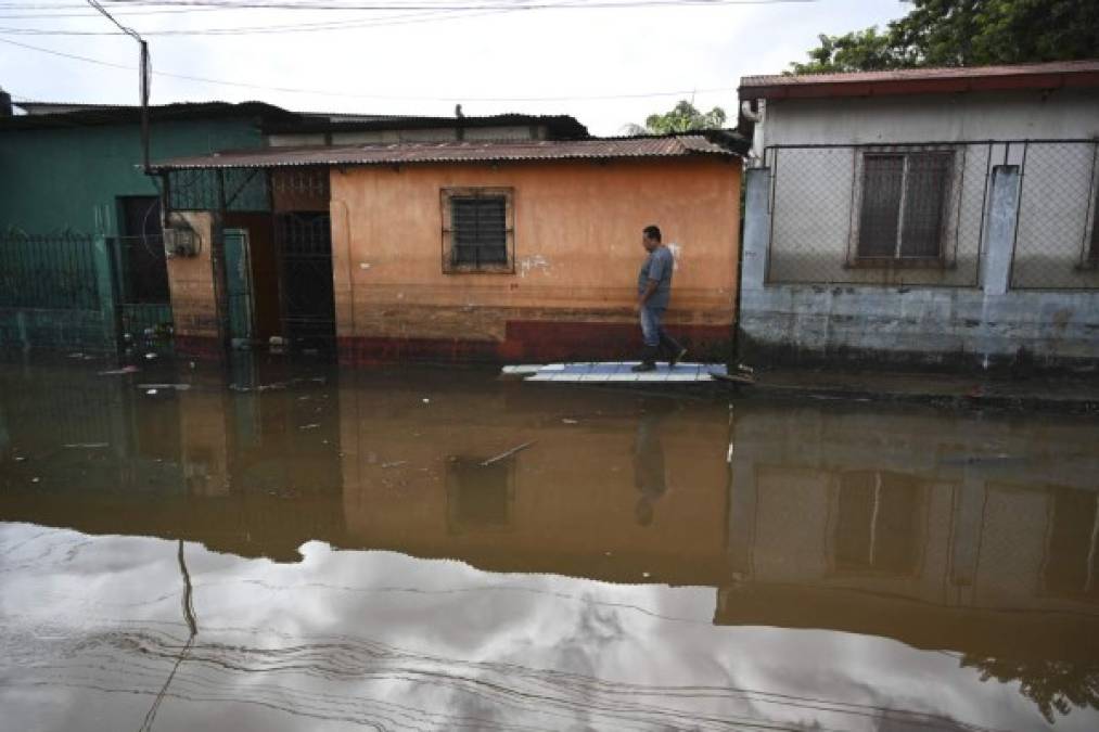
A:
POLYGON ((852 74, 745 76, 741 78, 740 92, 744 99, 778 99, 1062 87, 1099 87, 1099 60, 852 74))

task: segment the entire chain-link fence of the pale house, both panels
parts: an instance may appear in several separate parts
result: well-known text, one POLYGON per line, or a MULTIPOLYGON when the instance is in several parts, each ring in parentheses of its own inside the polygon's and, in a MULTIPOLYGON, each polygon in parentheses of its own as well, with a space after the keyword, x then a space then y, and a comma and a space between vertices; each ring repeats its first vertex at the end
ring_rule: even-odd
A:
POLYGON ((1099 142, 768 147, 773 284, 976 287, 992 166, 1021 171, 1012 289, 1099 288, 1099 142))

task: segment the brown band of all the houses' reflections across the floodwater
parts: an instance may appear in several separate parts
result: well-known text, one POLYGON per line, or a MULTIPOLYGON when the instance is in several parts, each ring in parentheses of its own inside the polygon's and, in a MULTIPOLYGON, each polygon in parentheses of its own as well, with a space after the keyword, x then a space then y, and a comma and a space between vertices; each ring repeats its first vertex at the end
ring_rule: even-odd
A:
POLYGON ((1047 717, 1099 698, 1091 425, 752 402, 731 417, 445 376, 337 386, 244 362, 149 396, 9 369, 0 520, 286 562, 320 540, 708 586, 719 625, 957 653, 1047 717))

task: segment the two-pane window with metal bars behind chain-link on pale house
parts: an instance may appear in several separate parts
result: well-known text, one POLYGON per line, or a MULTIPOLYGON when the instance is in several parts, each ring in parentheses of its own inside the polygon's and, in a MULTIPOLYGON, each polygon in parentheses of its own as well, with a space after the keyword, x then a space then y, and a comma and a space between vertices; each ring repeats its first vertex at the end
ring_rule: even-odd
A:
POLYGON ((857 262, 944 262, 953 168, 951 151, 865 153, 857 262))

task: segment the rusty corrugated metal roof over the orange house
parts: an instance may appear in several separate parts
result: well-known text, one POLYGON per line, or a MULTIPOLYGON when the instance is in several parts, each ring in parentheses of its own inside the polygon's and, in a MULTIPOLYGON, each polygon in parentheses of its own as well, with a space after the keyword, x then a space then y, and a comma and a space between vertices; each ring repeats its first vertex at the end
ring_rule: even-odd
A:
POLYGON ((156 170, 271 168, 328 165, 530 163, 542 160, 736 157, 746 142, 729 132, 601 140, 434 142, 310 147, 265 147, 155 163, 156 170))

